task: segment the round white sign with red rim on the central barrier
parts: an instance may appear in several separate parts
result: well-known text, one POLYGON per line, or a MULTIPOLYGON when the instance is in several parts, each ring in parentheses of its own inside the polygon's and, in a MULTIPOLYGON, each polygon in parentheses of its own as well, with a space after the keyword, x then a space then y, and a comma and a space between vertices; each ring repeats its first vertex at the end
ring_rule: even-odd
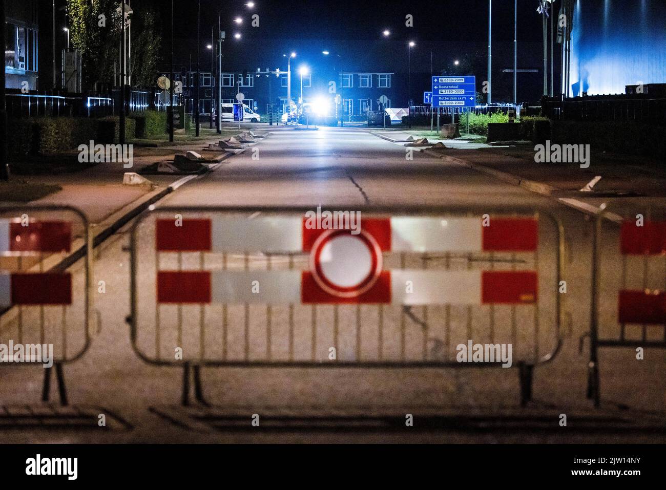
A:
POLYGON ((317 285, 328 294, 354 298, 372 288, 379 278, 382 249, 365 230, 357 235, 350 230, 326 230, 312 245, 310 270, 317 285), (350 250, 356 251, 356 256, 340 256, 350 250), (340 262, 341 268, 336 268, 340 262))

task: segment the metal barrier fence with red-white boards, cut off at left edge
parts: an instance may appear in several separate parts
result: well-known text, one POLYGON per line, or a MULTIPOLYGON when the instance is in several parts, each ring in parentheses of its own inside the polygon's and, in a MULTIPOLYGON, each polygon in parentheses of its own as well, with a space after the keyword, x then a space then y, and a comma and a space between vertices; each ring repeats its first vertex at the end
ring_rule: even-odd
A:
POLYGON ((63 364, 90 344, 91 248, 88 220, 75 208, 0 207, 0 367, 52 364, 45 366, 44 401, 55 367, 67 405, 63 364), (80 250, 85 260, 67 270, 80 250))

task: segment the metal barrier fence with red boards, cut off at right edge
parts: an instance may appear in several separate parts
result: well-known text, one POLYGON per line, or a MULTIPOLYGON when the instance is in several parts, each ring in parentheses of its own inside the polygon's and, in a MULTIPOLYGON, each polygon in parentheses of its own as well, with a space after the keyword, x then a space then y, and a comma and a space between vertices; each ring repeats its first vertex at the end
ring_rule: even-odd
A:
POLYGON ((623 204, 632 217, 606 209, 593 240, 587 397, 595 406, 600 348, 666 348, 666 208, 623 204))

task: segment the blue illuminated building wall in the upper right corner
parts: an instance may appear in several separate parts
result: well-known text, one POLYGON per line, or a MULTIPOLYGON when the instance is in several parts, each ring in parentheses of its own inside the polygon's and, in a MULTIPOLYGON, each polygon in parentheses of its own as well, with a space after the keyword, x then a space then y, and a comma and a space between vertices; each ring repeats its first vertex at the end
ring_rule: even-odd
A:
POLYGON ((666 83, 666 0, 577 0, 571 95, 666 83))

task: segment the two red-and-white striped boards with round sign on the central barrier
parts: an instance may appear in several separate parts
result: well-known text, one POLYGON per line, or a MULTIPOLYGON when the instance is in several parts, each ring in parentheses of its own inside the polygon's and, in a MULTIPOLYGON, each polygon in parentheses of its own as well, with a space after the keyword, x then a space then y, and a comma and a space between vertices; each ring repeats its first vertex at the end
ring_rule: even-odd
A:
POLYGON ((159 252, 309 254, 308 270, 157 273, 161 303, 532 304, 530 270, 385 270, 387 252, 534 252, 533 218, 366 218, 358 233, 302 218, 157 220, 159 252), (253 288, 253 284, 259 284, 253 288), (406 285, 408 285, 406 287, 406 285))

